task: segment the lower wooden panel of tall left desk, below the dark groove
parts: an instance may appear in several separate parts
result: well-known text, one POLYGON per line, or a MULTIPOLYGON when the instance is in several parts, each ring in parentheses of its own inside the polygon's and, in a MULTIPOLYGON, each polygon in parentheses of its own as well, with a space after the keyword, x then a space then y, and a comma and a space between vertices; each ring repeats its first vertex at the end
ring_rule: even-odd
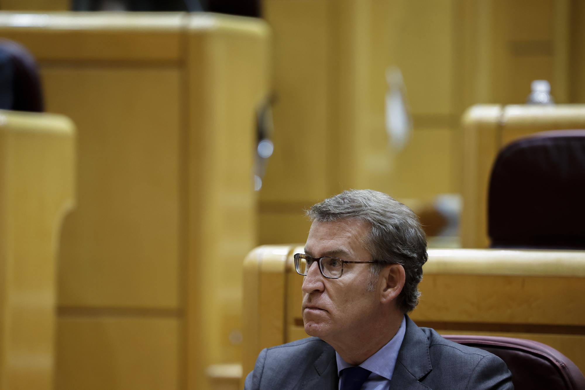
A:
POLYGON ((56 388, 178 388, 180 326, 173 317, 60 316, 56 388))

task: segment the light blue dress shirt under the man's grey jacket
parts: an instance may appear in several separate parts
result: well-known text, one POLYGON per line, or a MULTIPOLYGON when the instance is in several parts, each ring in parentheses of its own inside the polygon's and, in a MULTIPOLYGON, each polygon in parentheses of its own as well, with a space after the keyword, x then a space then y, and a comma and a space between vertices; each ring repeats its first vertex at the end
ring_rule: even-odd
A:
MULTIPOLYGON (((371 371, 370 376, 362 386, 362 390, 387 390, 390 387, 390 380, 398 358, 398 351, 400 351, 402 340, 404 340, 405 331, 406 318, 402 317, 400 328, 398 328, 392 340, 388 341, 384 347, 360 364, 360 367, 371 371)), ((335 357, 337 359, 337 375, 344 368, 353 367, 353 365, 343 361, 337 352, 335 352, 335 357)), ((343 378, 339 378, 338 388, 341 388, 342 380, 343 378)))

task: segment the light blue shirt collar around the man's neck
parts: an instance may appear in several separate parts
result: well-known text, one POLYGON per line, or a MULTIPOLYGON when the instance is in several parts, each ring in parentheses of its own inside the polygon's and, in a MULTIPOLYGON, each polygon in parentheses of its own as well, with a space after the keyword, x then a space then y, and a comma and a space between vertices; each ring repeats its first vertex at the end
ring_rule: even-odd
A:
MULTIPOLYGON (((396 359, 398 357, 398 351, 404 340, 404 333, 406 331, 406 317, 402 317, 400 328, 392 338, 388 341, 384 347, 380 348, 375 354, 371 355, 366 359, 359 367, 365 368, 373 372, 374 374, 380 375, 386 379, 392 379, 392 373, 394 372, 394 366, 396 365, 396 359)), ((353 365, 345 362, 335 351, 335 358, 337 360, 337 374, 344 368, 353 367, 353 365)))

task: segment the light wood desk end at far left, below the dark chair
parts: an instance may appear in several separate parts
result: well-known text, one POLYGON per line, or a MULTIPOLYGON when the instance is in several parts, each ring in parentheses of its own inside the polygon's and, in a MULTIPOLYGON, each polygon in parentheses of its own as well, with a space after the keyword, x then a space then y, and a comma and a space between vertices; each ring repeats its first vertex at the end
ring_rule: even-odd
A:
POLYGON ((56 269, 74 206, 75 126, 0 110, 0 389, 53 388, 56 269))

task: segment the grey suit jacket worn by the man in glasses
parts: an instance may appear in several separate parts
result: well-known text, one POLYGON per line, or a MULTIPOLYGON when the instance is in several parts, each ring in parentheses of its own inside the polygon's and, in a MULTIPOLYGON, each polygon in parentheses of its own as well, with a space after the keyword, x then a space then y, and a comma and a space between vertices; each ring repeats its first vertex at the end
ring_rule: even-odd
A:
MULTIPOLYGON (((335 350, 317 337, 261 351, 246 390, 338 390, 335 350)), ((390 390, 511 390, 504 361, 484 350, 453 343, 407 316, 390 390)))

